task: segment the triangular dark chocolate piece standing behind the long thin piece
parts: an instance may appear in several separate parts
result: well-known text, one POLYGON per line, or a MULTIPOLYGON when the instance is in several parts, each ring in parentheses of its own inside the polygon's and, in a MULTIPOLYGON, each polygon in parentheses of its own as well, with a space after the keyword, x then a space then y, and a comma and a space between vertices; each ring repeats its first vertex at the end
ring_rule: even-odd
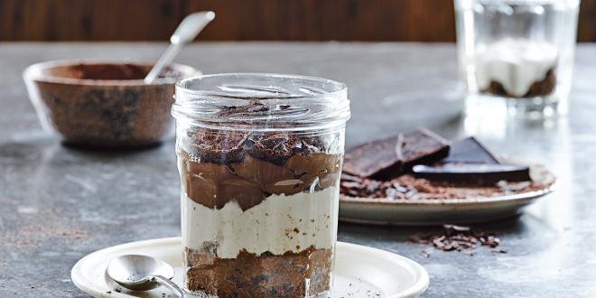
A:
POLYGON ((449 150, 449 156, 442 162, 499 164, 497 157, 473 136, 453 143, 449 150))

